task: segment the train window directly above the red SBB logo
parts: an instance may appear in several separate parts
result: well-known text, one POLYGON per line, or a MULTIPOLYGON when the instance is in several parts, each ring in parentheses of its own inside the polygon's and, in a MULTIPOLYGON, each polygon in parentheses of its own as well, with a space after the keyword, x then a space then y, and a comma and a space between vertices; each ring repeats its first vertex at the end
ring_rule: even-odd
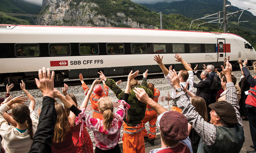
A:
POLYGON ((51 56, 70 55, 70 44, 49 44, 51 56))

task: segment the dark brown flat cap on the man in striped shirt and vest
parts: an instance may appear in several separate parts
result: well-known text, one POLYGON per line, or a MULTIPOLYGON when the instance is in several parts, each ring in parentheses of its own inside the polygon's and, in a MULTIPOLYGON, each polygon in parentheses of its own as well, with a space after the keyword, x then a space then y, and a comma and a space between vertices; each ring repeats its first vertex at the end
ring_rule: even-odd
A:
POLYGON ((213 104, 208 105, 209 108, 214 109, 215 112, 220 116, 220 118, 228 123, 237 123, 237 115, 235 113, 235 108, 226 101, 218 101, 213 104))

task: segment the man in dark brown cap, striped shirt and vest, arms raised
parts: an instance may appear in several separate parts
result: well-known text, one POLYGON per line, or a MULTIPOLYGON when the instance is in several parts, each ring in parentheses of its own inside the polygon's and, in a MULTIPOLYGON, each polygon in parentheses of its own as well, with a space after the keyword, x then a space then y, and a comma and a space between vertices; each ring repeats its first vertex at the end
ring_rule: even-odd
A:
MULTIPOLYGON (((232 66, 227 60, 224 69, 227 78, 226 101, 218 101, 209 105, 211 108, 210 123, 196 112, 183 91, 177 92, 177 105, 182 109, 188 122, 201 137, 197 153, 239 153, 244 143, 244 130, 237 104, 237 92, 232 82, 232 66)), ((171 81, 175 89, 179 87, 179 80, 175 70, 170 70, 171 81)), ((178 90, 176 90, 178 91, 178 90)))

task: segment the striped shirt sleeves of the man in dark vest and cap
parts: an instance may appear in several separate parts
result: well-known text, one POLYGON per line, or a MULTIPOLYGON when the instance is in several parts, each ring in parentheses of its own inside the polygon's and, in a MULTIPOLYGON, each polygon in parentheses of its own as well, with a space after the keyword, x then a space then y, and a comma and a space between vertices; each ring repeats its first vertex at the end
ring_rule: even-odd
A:
MULTIPOLYGON (((226 87, 226 101, 234 106, 238 124, 244 128, 242 118, 240 117, 238 111, 239 105, 237 104, 237 92, 235 90, 234 83, 228 82, 226 87)), ((202 138, 203 143, 209 146, 213 145, 217 136, 215 126, 204 121, 202 116, 200 116, 198 112, 195 111, 195 107, 190 103, 189 99, 186 97, 183 91, 179 92, 176 95, 176 98, 178 98, 177 105, 180 109, 182 109, 182 114, 187 117, 188 122, 192 125, 197 134, 199 134, 199 136, 202 138)))

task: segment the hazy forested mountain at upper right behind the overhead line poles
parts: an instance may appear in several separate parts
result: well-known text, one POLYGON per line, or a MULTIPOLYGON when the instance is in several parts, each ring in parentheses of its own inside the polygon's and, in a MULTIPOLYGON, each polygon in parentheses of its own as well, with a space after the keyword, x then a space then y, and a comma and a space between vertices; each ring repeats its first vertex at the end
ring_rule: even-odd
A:
MULTIPOLYGON (((227 1, 227 4, 232 4, 227 1)), ((151 11, 160 12, 163 14, 182 14, 185 17, 193 19, 198 19, 207 15, 215 14, 219 11, 223 11, 223 0, 183 0, 182 2, 161 2, 156 4, 142 4, 149 8, 151 11)), ((227 7, 227 13, 232 13, 241 10, 238 7, 227 7)), ((228 19, 227 31, 234 34, 239 34, 240 36, 250 40, 256 47, 256 16, 254 16, 249 11, 244 11, 240 17, 240 22, 238 23, 238 18, 240 13, 232 15, 228 19)), ((215 15, 216 17, 216 15, 215 15)), ((221 18, 223 14, 221 14, 221 18)), ((213 19, 211 19, 213 20, 213 19)), ((203 20, 204 22, 209 20, 203 20)), ((194 23, 193 23, 194 24, 194 23)), ((214 26, 218 28, 221 24, 204 24, 204 26, 214 26)), ((199 26, 200 27, 200 26, 199 26)), ((222 26, 221 26, 222 29, 222 26)), ((196 30, 196 29, 192 29, 196 30)), ((222 31, 220 31, 222 32, 222 31)))

